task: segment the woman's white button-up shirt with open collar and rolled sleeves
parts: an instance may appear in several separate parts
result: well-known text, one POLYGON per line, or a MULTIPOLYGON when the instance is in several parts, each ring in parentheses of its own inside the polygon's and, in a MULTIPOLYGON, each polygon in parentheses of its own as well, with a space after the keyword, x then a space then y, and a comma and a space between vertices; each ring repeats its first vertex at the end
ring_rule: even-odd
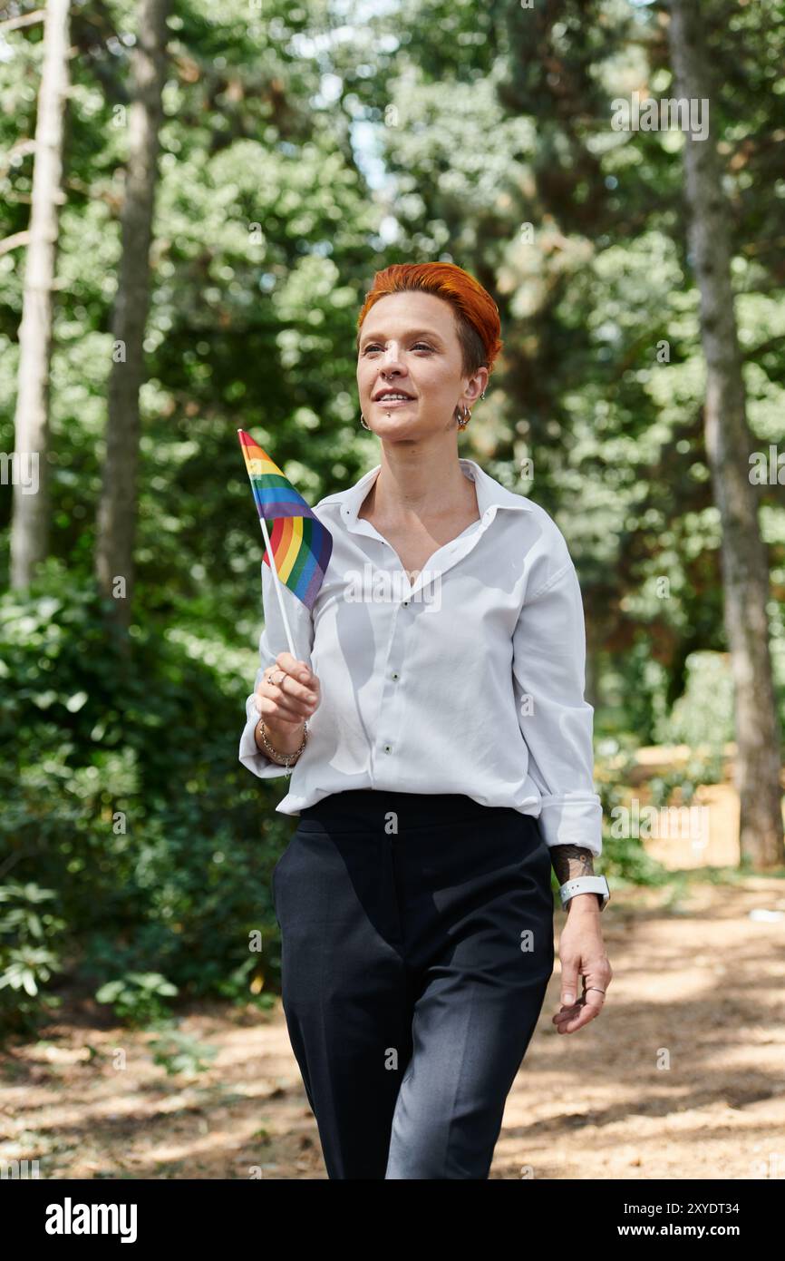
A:
MULTIPOLYGON (((296 656, 321 683, 309 740, 276 807, 297 815, 353 788, 462 793, 533 815, 548 845, 602 850, 593 786, 593 707, 583 699, 586 633, 567 543, 539 504, 474 460, 480 520, 408 580, 391 543, 358 518, 381 465, 314 513, 333 552, 312 610, 282 586, 296 656)), ((256 676, 289 644, 268 565, 256 676)), ((253 694, 239 760, 260 753, 253 694)))

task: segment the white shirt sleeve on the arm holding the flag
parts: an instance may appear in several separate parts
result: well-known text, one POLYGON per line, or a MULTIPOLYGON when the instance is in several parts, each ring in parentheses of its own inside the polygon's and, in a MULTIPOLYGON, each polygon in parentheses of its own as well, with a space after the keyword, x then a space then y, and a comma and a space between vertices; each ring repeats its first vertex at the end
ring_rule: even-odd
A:
MULTIPOLYGON (((287 773, 285 767, 278 765, 276 762, 271 762, 267 754, 260 753, 253 736, 256 724, 260 720, 258 711, 253 704, 256 689, 258 687, 265 670, 273 665, 278 653, 289 652, 289 639, 286 637, 286 628, 284 625, 284 618, 281 617, 281 608, 278 605, 278 598, 276 595, 273 583, 275 579, 270 565, 265 565, 262 561, 262 603, 265 609, 265 625, 260 636, 260 667, 253 681, 253 691, 246 700, 246 725, 239 738, 239 760, 243 767, 247 767, 248 770, 252 770, 253 774, 258 776, 261 779, 275 779, 287 773)), ((281 598, 286 608, 289 625, 295 642, 295 656, 299 661, 305 661, 310 666, 311 649, 314 647, 312 614, 302 600, 299 600, 287 586, 284 586, 284 584, 281 584, 281 598)))

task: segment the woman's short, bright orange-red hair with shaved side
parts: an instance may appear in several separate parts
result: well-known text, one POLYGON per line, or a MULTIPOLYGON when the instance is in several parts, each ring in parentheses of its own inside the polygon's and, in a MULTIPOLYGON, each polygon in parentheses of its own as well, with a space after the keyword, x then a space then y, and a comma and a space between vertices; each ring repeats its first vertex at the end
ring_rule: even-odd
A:
POLYGON ((501 322, 499 308, 479 280, 454 262, 396 262, 377 271, 373 286, 357 320, 357 346, 365 315, 389 294, 420 290, 450 303, 455 311, 457 339, 464 357, 464 372, 471 377, 478 368, 494 369, 494 361, 501 351, 501 322))

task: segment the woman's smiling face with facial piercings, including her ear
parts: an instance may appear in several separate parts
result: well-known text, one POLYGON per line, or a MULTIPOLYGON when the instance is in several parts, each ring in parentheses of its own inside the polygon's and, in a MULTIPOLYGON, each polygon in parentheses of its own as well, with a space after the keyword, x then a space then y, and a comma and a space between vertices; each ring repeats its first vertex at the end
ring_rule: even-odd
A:
POLYGON ((455 409, 471 407, 486 382, 488 368, 464 375, 455 315, 441 298, 418 290, 388 294, 363 320, 357 385, 365 422, 379 438, 454 430, 455 409), (408 397, 377 397, 383 390, 408 397))

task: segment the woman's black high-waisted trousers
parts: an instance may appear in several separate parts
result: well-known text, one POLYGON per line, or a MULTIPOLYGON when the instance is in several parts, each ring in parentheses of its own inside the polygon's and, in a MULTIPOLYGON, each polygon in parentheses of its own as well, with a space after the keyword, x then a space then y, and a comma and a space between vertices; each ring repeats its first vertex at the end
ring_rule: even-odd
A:
POLYGON ((272 876, 284 1010, 329 1178, 488 1178, 553 971, 530 815, 335 793, 272 876))

